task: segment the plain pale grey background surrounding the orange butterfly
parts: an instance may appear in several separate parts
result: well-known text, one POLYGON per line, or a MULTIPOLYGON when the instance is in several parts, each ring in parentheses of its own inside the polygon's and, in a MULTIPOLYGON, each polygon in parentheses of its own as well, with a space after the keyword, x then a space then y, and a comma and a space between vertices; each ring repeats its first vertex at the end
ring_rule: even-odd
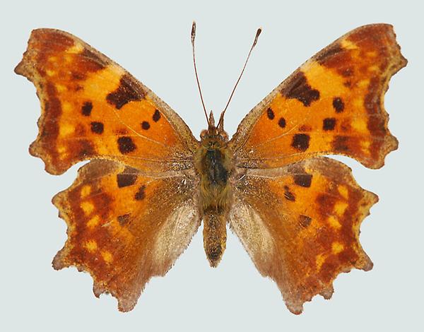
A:
POLYGON ((423 8, 420 1, 8 1, 1 33, 1 331, 423 331, 423 8), (66 238, 50 200, 71 184, 30 157, 40 105, 32 84, 13 74, 30 30, 69 31, 128 69, 177 110, 196 136, 205 127, 192 69, 189 32, 197 21, 197 61, 208 109, 219 112, 254 32, 264 28, 228 110, 233 134, 242 117, 303 61, 343 33, 391 23, 409 60, 386 95, 399 150, 381 170, 346 160, 380 202, 363 223, 370 272, 340 275, 330 301, 288 312, 276 285, 256 271, 228 236, 217 269, 208 266, 201 231, 165 278, 154 278, 134 311, 93 296, 86 273, 54 271, 66 238))

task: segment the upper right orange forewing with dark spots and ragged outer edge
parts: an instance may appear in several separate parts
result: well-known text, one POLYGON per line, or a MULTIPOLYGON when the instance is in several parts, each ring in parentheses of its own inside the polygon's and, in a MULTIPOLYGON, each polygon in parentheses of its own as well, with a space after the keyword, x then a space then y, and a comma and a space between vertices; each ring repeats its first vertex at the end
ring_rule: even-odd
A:
POLYGON ((365 25, 303 64, 241 122, 230 141, 241 167, 281 167, 319 154, 370 168, 397 148, 384 93, 406 66, 393 28, 365 25))

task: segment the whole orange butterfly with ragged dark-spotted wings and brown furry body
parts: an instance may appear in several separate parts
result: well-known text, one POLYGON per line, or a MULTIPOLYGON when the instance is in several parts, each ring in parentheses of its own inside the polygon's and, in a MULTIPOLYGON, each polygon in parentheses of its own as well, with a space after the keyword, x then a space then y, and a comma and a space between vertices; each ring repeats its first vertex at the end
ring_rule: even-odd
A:
MULTIPOLYGON (((193 55, 194 36, 195 25, 193 55)), ((384 165, 398 142, 383 97, 406 63, 391 25, 356 28, 278 85, 231 139, 225 110, 215 124, 204 108, 208 128, 198 141, 114 61, 67 32, 33 30, 15 69, 41 102, 30 153, 50 174, 90 160, 52 200, 68 227, 53 267, 87 271, 95 296, 109 292, 127 312, 203 220, 211 266, 223 256, 229 225, 290 312, 300 314, 314 295, 329 299, 339 273, 372 268, 359 231, 378 197, 324 155, 384 165)))

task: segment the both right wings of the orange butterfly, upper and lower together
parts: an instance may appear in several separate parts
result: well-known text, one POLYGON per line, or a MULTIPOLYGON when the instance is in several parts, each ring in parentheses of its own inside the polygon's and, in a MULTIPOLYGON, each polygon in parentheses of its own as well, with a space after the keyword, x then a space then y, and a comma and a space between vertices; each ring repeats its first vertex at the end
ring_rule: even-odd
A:
POLYGON ((383 97, 406 65, 391 25, 366 25, 303 64, 243 119, 230 141, 230 226, 295 314, 351 268, 372 268, 358 235, 377 196, 361 189, 348 155, 371 168, 397 148, 383 97))

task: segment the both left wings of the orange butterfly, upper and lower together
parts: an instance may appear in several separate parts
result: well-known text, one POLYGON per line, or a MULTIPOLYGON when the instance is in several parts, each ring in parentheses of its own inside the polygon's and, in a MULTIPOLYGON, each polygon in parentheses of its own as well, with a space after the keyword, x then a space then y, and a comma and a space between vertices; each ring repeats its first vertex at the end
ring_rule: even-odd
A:
POLYGON ((85 42, 34 30, 16 73, 40 97, 30 153, 61 174, 81 160, 53 203, 68 225, 56 269, 76 266, 131 310, 153 275, 164 275, 200 224, 193 151, 184 121, 146 86, 85 42))

